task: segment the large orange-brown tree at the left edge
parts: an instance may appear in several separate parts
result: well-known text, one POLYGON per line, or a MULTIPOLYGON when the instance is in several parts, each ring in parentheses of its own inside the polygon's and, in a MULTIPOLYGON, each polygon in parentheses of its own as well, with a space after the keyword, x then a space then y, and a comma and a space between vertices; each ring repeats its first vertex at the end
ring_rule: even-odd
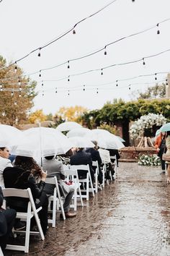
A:
POLYGON ((35 81, 25 77, 16 65, 6 65, 0 56, 0 122, 17 125, 27 121, 27 113, 33 106, 35 81))

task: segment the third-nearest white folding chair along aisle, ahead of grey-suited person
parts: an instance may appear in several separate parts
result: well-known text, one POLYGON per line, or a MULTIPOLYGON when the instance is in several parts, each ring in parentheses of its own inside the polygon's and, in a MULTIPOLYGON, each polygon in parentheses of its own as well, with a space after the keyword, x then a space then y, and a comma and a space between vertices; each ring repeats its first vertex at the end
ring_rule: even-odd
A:
MULTIPOLYGON (((67 181, 69 182, 70 178, 73 182, 73 188, 74 188, 74 194, 73 194, 73 205, 70 205, 70 207, 73 207, 74 210, 77 210, 77 199, 80 198, 81 200, 81 206, 84 206, 82 195, 81 195, 81 183, 79 182, 79 176, 76 169, 68 168, 68 166, 64 167, 64 171, 67 176, 67 181), (79 195, 77 194, 77 189, 79 189, 79 195)), ((71 185, 72 186, 72 185, 71 185)))

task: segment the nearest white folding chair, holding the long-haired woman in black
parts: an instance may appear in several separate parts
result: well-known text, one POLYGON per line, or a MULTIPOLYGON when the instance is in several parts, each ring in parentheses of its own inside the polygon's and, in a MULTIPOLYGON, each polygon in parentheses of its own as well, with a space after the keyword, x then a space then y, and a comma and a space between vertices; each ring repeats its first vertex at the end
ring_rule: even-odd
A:
MULTIPOLYGON (((28 205, 27 205, 27 213, 21 213, 17 212, 17 217, 16 218, 21 218, 23 220, 26 220, 26 231, 16 231, 17 233, 24 233, 25 234, 25 242, 24 246, 22 245, 15 245, 15 244, 7 244, 6 249, 13 249, 17 251, 24 251, 24 252, 29 252, 29 242, 30 242, 30 234, 40 234, 40 237, 42 240, 45 239, 42 227, 40 224, 40 218, 38 217, 38 212, 42 209, 40 208, 35 208, 35 202, 32 197, 32 192, 31 189, 11 189, 11 188, 6 188, 2 189, 4 197, 22 197, 22 198, 27 198, 29 200, 28 205), (35 217, 35 221, 37 223, 37 229, 38 231, 30 231, 30 223, 31 223, 31 218, 35 217)), ((6 198, 7 199, 7 198, 6 198)))

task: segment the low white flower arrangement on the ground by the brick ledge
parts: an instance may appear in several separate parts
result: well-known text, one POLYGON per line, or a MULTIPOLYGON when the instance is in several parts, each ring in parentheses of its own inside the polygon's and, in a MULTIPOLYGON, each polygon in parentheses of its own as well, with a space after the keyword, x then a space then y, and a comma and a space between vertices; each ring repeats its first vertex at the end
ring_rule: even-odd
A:
POLYGON ((138 159, 139 166, 161 166, 161 159, 158 155, 140 155, 138 159))

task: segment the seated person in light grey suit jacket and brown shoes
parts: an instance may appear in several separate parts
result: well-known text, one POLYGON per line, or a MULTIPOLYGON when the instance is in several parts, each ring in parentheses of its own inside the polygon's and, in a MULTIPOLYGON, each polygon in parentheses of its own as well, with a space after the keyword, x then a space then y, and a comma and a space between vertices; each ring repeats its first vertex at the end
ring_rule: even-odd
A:
MULTIPOLYGON (((62 182, 62 179, 66 178, 62 161, 58 161, 56 158, 54 158, 54 155, 45 156, 45 158, 42 160, 42 166, 45 171, 48 171, 48 176, 57 176, 58 187, 60 189, 61 196, 65 197, 63 209, 66 218, 75 217, 76 213, 69 212, 74 189, 70 185, 62 182)), ((55 185, 53 184, 45 184, 45 192, 47 193, 47 195, 53 195, 54 187, 55 185)))

